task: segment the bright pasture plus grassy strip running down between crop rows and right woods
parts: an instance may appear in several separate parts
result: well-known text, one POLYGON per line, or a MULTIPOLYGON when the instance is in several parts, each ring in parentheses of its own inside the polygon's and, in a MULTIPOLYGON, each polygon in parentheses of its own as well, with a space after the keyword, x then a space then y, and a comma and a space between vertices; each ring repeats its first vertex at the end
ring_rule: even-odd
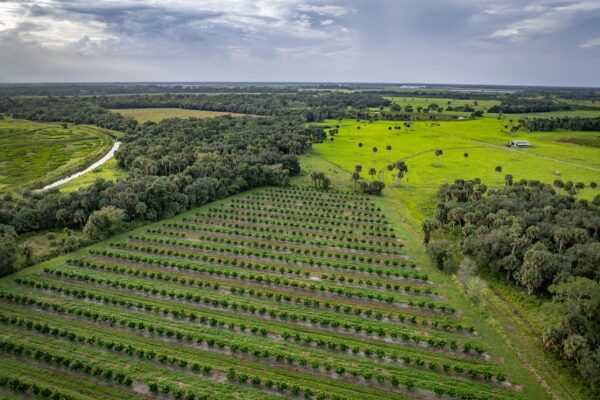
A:
MULTIPOLYGON (((332 180, 333 187, 351 190, 351 171, 355 164, 362 164, 363 177, 369 180, 365 171, 370 166, 380 169, 390 161, 404 159, 409 166, 408 185, 404 181, 401 188, 392 187, 391 178, 386 176, 388 187, 376 202, 390 216, 401 236, 407 238, 406 247, 411 258, 423 266, 433 280, 446 283, 440 287, 440 293, 458 305, 463 312, 462 318, 483 332, 487 346, 503 354, 506 368, 515 368, 511 373, 523 379, 523 390, 528 398, 588 399, 591 394, 577 377, 571 375, 570 369, 543 349, 540 342, 544 324, 540 305, 543 301, 501 280, 487 277, 490 287, 486 295, 488 307, 474 309, 454 279, 431 267, 419 240, 420 222, 432 215, 437 187, 458 177, 478 176, 494 187, 497 175, 494 167, 502 165, 502 175, 511 173, 516 179, 552 182, 556 178, 552 171, 560 170, 563 180, 586 184, 590 180, 600 180, 600 173, 594 170, 599 162, 595 147, 599 137, 597 132, 519 132, 516 137, 530 140, 535 147, 515 153, 492 147, 501 146, 512 137, 505 132, 505 123, 482 119, 440 122, 440 126, 432 126, 419 122, 410 130, 402 125, 398 133, 387 129, 394 126, 393 122, 363 123, 358 130, 356 122, 343 121, 340 135, 333 142, 316 145, 313 151, 301 157, 302 174, 294 178, 293 183, 310 185, 312 172, 324 172, 332 180), (363 143, 362 149, 358 148, 359 142, 363 143), (392 151, 385 150, 388 144, 392 151), (373 146, 378 147, 377 153, 372 152, 373 146), (433 150, 436 148, 444 150, 440 166, 434 166, 433 150), (463 157, 465 152, 469 153, 468 159, 463 157)), ((592 198, 599 193, 586 188, 580 196, 592 198)))

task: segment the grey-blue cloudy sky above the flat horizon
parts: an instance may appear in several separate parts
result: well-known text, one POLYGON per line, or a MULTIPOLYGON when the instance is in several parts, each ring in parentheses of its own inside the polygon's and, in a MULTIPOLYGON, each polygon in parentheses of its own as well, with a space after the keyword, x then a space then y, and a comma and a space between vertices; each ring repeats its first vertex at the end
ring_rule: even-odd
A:
POLYGON ((600 0, 0 0, 0 82, 600 86, 600 0))

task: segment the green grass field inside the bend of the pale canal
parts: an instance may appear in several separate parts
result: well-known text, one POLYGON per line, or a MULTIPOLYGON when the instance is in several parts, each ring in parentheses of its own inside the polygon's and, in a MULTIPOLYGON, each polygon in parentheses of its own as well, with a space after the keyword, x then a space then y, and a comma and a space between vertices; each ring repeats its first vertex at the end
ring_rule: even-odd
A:
POLYGON ((93 163, 115 132, 97 127, 0 120, 0 192, 40 187, 93 163))

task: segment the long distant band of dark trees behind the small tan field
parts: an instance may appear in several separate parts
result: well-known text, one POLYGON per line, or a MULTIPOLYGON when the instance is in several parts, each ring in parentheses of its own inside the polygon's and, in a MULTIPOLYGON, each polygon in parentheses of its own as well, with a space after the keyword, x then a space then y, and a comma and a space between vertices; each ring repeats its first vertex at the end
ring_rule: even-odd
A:
POLYGON ((172 107, 261 116, 297 117, 305 122, 325 118, 366 118, 369 107, 387 107, 390 100, 373 94, 157 94, 101 97, 0 98, 0 113, 34 121, 94 123, 126 131, 131 121, 107 108, 172 107))

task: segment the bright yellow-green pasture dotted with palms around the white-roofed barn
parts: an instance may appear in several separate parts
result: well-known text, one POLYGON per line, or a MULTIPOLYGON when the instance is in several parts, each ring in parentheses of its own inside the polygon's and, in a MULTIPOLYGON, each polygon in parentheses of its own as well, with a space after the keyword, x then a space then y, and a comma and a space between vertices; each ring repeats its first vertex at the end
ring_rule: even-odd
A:
MULTIPOLYGON (((564 181, 600 183, 600 158, 597 147, 582 145, 597 143, 597 132, 510 133, 507 121, 491 118, 438 123, 414 122, 411 128, 392 121, 373 123, 354 120, 329 121, 339 124, 334 141, 314 146, 314 151, 350 173, 356 164, 363 167, 362 177, 374 167, 384 171, 382 178, 417 219, 428 217, 436 204, 438 187, 457 178, 479 177, 490 187, 504 184, 504 175, 515 180, 538 179, 552 183, 564 181), (394 129, 395 126, 401 129, 394 129), (360 129, 358 129, 360 127, 360 129), (390 129, 391 128, 391 129, 390 129), (513 139, 527 139, 533 147, 513 150, 504 145, 513 139), (362 143, 362 148, 359 147, 362 143), (386 150, 387 146, 391 150, 386 150), (377 152, 373 152, 377 147, 377 152), (436 149, 444 154, 436 158, 436 149), (464 154, 468 153, 468 158, 464 154), (408 165, 408 173, 397 188, 397 182, 386 166, 399 160, 408 165), (502 172, 495 172, 496 166, 502 172)), ((349 176, 348 176, 348 179, 349 176)), ((583 198, 591 199, 600 190, 586 189, 583 198)))

